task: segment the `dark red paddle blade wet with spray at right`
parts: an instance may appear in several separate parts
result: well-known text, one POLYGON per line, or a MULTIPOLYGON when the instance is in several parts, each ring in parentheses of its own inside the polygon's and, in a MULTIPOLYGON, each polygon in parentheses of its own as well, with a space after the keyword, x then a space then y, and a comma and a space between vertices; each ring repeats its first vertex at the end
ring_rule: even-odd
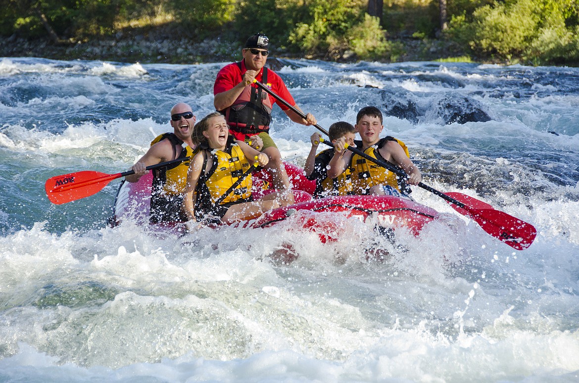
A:
MULTIPOLYGON (((450 194, 450 193, 446 193, 450 194)), ((471 197, 472 198, 472 197, 471 197)), ((472 198, 476 200, 476 198, 472 198)), ((477 200, 478 201, 478 200, 477 200)), ((482 204, 485 202, 479 201, 482 204)), ((461 208, 450 203, 457 212, 465 215, 499 241, 517 250, 525 250, 537 236, 537 230, 530 224, 496 209, 477 209, 470 206, 461 208)), ((489 205, 490 206, 490 205, 489 205)))

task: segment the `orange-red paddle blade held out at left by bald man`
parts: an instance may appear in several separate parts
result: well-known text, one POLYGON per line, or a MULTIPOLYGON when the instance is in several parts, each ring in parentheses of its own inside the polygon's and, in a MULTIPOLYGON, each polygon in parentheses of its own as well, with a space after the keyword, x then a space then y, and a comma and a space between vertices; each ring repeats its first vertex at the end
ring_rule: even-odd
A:
POLYGON ((65 204, 92 196, 119 177, 121 177, 120 173, 105 174, 95 171, 57 175, 46 180, 46 196, 53 204, 65 204))

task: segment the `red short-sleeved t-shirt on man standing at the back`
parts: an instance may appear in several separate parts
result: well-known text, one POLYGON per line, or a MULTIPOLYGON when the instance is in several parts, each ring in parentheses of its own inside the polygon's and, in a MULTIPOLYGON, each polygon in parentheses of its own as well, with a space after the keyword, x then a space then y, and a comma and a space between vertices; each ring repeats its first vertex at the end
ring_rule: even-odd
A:
MULTIPOLYGON (((239 69, 239 65, 237 65, 237 62, 225 65, 225 67, 221 68, 221 71, 217 73, 217 78, 215 79, 215 84, 213 85, 213 94, 215 95, 232 89, 234 86, 241 82, 241 79, 243 79, 243 73, 245 72, 247 72, 247 69, 245 68, 245 60, 241 60, 241 71, 239 69)), ((262 78, 263 68, 261 68, 261 71, 259 71, 258 75, 255 76, 255 79, 259 82, 262 82, 262 78)), ((287 89, 287 87, 285 87, 284 81, 277 73, 272 71, 272 69, 267 69, 267 84, 264 85, 269 87, 273 93, 287 101, 288 104, 295 105, 294 98, 290 94, 290 91, 287 89)), ((251 86, 255 88, 257 87, 256 84, 251 84, 251 86)), ((287 111, 290 109, 278 102, 275 97, 272 97, 269 94, 268 96, 270 100, 272 100, 272 105, 275 102, 282 111, 287 111)))

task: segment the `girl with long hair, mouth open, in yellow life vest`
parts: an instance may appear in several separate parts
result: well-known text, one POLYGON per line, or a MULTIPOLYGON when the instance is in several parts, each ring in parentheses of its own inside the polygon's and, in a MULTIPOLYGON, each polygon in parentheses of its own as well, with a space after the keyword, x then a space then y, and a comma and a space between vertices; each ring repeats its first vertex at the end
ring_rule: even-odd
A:
MULTIPOLYGON (((193 141, 199 153, 193 157, 187 172, 184 209, 189 222, 209 224, 233 223, 255 218, 267 210, 278 208, 270 193, 260 200, 251 195, 251 174, 245 174, 254 164, 265 166, 269 159, 264 153, 229 135, 225 117, 210 113, 193 128, 193 141), (243 179, 235 185, 238 179, 243 179)), ((190 227, 190 226, 189 226, 190 227)))

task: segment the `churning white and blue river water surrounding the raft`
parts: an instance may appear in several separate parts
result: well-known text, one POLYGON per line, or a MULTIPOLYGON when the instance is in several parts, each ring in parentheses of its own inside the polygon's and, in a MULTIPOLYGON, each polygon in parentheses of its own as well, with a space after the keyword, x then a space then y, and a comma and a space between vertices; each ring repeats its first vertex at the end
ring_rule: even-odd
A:
MULTIPOLYGON (((332 244, 111 228, 118 179, 47 200, 51 176, 129 168, 176 102, 212 112, 223 64, 0 58, 0 381, 579 381, 579 69, 277 62, 325 128, 379 106, 427 185, 533 224, 525 251, 419 188, 453 225, 404 246, 350 220, 332 244), (298 259, 273 262, 288 243, 298 259)), ((286 161, 314 131, 276 107, 286 161)))

